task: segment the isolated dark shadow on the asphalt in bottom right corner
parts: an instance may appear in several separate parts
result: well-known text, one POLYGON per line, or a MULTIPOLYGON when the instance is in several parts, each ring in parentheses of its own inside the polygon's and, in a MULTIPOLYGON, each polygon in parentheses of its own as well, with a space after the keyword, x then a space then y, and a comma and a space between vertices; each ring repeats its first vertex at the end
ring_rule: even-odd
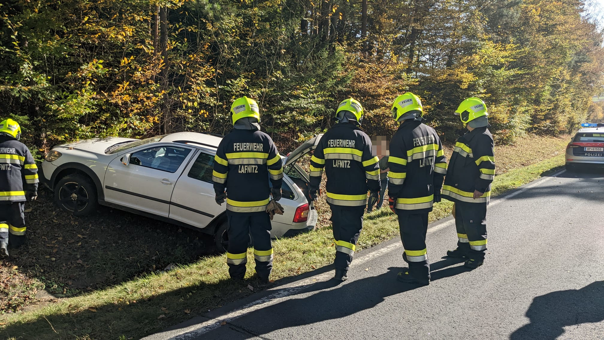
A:
POLYGON ((582 289, 560 290, 537 296, 528 307, 530 324, 510 335, 511 340, 554 340, 565 326, 604 320, 604 281, 582 289))

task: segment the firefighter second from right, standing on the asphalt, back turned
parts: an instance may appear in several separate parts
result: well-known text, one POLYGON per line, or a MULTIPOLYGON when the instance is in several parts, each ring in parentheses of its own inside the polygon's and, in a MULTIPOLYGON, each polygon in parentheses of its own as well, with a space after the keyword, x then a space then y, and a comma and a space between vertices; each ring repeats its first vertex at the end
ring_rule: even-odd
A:
POLYGON ((399 122, 390 142, 388 201, 399 219, 400 238, 408 270, 399 272, 403 283, 430 283, 426 249, 428 213, 440 202, 447 161, 439 136, 422 123, 422 101, 407 92, 394 100, 392 117, 399 122))

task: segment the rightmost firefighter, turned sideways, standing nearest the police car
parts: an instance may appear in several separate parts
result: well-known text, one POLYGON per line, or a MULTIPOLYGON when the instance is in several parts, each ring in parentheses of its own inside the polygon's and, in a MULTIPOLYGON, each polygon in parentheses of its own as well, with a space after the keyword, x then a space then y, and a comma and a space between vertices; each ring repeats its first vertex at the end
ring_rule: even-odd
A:
POLYGON ((483 264, 487 250, 487 204, 495 177, 493 136, 483 100, 468 98, 455 114, 467 132, 455 143, 443 185, 443 197, 454 202, 458 240, 457 249, 447 255, 466 258, 464 266, 475 269, 483 264))

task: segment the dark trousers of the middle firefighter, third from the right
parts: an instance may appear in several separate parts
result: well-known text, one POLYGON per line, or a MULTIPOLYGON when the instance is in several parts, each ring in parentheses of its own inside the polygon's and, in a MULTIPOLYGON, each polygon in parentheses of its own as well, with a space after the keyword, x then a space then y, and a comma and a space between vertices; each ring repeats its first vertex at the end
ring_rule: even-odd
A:
POLYGON ((365 206, 338 206, 329 204, 332 209, 333 238, 336 244, 335 269, 348 270, 355 255, 356 241, 363 229, 365 206))

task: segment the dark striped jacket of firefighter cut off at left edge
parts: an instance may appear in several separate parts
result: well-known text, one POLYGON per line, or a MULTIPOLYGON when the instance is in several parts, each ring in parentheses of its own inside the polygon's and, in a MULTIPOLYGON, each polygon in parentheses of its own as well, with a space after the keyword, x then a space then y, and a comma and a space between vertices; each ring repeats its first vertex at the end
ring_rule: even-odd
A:
POLYGON ((18 140, 0 136, 0 204, 24 202, 37 192, 37 166, 30 149, 18 140))

